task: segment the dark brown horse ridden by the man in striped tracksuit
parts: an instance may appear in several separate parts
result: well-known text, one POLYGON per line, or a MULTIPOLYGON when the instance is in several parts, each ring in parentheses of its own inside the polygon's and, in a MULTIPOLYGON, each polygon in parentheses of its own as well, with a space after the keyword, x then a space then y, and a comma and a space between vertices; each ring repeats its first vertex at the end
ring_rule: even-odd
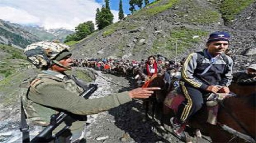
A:
MULTIPOLYGON (((226 98, 220 103, 217 125, 206 123, 208 114, 206 107, 198 111, 189 120, 188 125, 200 129, 203 134, 210 136, 213 142, 255 142, 256 92, 253 91, 256 86, 242 88, 232 84, 230 88, 235 88, 238 95, 226 98), (253 93, 245 96, 243 95, 247 93, 245 90, 253 93)), ((166 105, 163 109, 165 117, 169 113, 172 113, 170 116, 174 115, 166 105)))

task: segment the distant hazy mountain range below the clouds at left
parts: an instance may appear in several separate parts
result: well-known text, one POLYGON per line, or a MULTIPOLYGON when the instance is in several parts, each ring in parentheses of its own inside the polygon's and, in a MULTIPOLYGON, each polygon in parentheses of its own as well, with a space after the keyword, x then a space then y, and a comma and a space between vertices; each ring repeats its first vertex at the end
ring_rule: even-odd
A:
POLYGON ((74 33, 67 29, 44 29, 39 26, 24 26, 0 19, 0 43, 16 48, 25 48, 31 43, 42 40, 64 41, 67 35, 74 33))

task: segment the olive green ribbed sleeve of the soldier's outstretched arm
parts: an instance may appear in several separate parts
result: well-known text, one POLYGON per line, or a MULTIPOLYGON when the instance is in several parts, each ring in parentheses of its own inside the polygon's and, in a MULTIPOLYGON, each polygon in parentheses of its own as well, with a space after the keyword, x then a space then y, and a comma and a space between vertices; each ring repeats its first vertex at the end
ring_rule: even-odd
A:
POLYGON ((128 92, 86 100, 66 90, 61 85, 44 83, 36 88, 31 88, 28 98, 38 104, 59 108, 79 115, 96 114, 132 101, 128 92))

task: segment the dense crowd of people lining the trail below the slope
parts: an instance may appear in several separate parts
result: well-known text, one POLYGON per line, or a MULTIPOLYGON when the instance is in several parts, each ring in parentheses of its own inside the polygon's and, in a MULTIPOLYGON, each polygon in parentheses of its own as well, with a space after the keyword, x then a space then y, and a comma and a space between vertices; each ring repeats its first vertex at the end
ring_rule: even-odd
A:
POLYGON ((161 56, 151 55, 148 59, 141 59, 141 61, 137 60, 129 60, 129 59, 112 59, 112 58, 84 58, 84 59, 73 59, 74 67, 89 67, 94 68, 95 70, 104 71, 105 73, 111 73, 115 75, 126 75, 129 76, 131 73, 127 72, 129 69, 140 68, 148 77, 152 75, 154 72, 166 70, 166 72, 170 75, 172 70, 181 71, 182 63, 185 58, 180 62, 168 61, 165 58, 161 58, 161 56), (153 65, 152 65, 153 64, 153 65), (150 66, 157 66, 157 69, 152 68, 149 70, 150 66), (122 70, 120 70, 122 69, 122 70))

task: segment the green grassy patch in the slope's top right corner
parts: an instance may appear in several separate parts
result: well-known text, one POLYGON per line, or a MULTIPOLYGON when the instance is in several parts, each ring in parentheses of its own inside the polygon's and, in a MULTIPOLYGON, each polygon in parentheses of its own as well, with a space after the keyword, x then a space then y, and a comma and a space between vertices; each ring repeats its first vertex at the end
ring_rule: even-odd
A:
POLYGON ((220 12, 225 22, 235 19, 241 11, 250 6, 255 0, 224 0, 220 4, 220 12))

